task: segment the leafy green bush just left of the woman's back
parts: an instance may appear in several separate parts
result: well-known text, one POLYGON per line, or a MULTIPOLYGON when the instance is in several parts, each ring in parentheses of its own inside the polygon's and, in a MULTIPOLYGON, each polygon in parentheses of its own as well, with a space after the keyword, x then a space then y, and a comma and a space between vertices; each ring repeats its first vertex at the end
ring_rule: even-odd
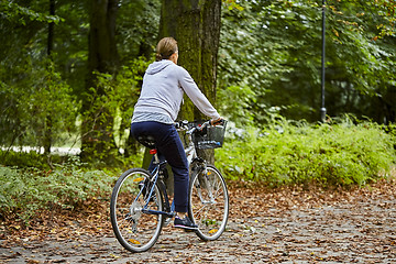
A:
POLYGON ((92 157, 106 161, 107 165, 114 165, 111 158, 118 158, 119 148, 125 146, 133 107, 148 63, 142 56, 123 66, 117 76, 96 73, 97 88, 85 92, 89 108, 82 113, 82 119, 90 119, 94 123, 87 134, 96 140, 96 144, 105 145, 103 151, 94 152, 92 157), (108 138, 102 138, 103 134, 110 134, 111 142, 107 142, 108 138))

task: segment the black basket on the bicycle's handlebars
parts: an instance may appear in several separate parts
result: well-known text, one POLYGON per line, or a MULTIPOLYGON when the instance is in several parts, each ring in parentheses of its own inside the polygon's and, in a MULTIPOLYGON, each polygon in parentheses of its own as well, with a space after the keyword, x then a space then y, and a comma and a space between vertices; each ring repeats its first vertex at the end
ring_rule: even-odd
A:
POLYGON ((193 134, 193 141, 196 148, 217 148, 221 147, 224 141, 227 121, 223 120, 222 124, 210 125, 202 131, 197 131, 193 134))

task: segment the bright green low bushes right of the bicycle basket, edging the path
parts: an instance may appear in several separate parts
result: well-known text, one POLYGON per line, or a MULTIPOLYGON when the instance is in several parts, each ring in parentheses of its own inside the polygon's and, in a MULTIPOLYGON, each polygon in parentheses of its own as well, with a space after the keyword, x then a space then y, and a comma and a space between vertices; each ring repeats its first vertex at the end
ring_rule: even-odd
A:
POLYGON ((365 185, 396 163, 395 136, 371 122, 351 119, 310 125, 277 119, 263 131, 249 129, 217 151, 217 165, 230 179, 270 186, 365 185))

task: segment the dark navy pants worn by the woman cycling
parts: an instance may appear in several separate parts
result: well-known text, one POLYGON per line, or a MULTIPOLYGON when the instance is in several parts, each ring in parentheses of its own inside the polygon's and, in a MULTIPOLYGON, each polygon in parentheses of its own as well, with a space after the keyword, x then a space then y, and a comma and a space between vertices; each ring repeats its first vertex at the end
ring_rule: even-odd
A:
POLYGON ((182 140, 173 124, 158 122, 132 123, 131 132, 134 138, 152 135, 155 139, 156 148, 172 167, 175 187, 175 211, 187 212, 188 207, 188 162, 182 140))

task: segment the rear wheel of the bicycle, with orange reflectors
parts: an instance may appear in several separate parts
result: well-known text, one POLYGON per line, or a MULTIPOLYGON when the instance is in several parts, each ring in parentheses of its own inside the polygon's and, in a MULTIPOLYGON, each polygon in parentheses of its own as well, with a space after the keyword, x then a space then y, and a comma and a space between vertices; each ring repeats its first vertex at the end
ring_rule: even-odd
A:
POLYGON ((163 199, 157 185, 151 197, 151 174, 142 168, 124 172, 117 180, 110 201, 110 218, 120 244, 131 252, 143 252, 157 241, 164 218, 144 213, 142 209, 162 211, 163 199))

